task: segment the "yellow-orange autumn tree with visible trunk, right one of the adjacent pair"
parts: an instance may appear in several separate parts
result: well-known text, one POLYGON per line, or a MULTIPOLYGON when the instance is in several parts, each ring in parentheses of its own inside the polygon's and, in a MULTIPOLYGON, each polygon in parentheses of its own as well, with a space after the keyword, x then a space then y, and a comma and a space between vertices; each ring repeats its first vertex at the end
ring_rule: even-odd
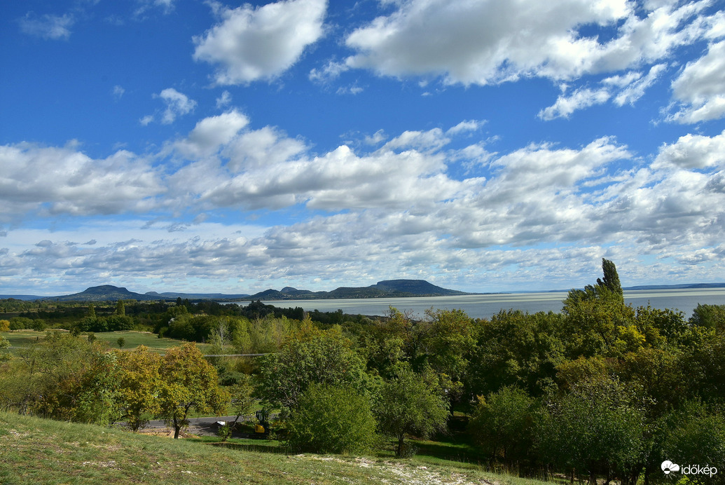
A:
POLYGON ((178 438, 188 426, 191 409, 199 413, 222 413, 229 395, 220 389, 217 371, 204 360, 196 344, 187 343, 168 349, 159 366, 159 411, 157 417, 174 428, 178 438))

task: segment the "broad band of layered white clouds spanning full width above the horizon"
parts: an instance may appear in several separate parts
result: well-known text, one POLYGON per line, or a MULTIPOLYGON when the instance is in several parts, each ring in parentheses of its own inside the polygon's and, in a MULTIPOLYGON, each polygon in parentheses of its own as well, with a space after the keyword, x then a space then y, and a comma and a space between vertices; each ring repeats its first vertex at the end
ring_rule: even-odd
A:
MULTIPOLYGON (((609 85, 646 78, 622 76, 609 85)), ((436 276, 473 289, 483 281, 473 268, 486 268, 500 289, 540 281, 542 271, 561 273, 563 260, 575 269, 567 263, 568 274, 558 277, 564 281, 580 268, 589 281, 597 268, 581 261, 608 250, 632 261, 653 254, 693 266, 683 271, 697 279, 716 277, 715 262, 724 254, 725 132, 663 144, 651 164, 610 137, 498 153, 486 151, 487 141, 451 148, 481 123, 379 132, 369 152, 344 144, 313 154, 304 141, 271 126, 254 129, 246 115, 230 110, 167 144, 154 162, 179 160, 164 171, 130 152, 91 159, 72 144, 2 146, 4 223, 31 211, 52 217, 150 210, 154 218, 106 223, 104 217, 83 227, 83 239, 76 230, 17 236, 11 228, 13 241, 25 242, 3 240, 0 281, 37 272, 125 286, 227 278, 312 284, 313 277, 332 286, 436 276), (473 158, 479 162, 469 173, 454 178, 451 169, 473 158), (250 215, 245 211, 299 205, 315 211, 266 228, 210 222, 229 209, 250 215)))

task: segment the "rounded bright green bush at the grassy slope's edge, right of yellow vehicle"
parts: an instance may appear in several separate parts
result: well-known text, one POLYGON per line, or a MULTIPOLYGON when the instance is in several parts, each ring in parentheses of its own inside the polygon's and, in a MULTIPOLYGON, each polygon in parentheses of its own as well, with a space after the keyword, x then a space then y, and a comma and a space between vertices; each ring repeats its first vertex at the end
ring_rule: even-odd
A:
POLYGON ((357 453, 373 446, 370 400, 351 386, 311 384, 288 423, 289 445, 315 453, 357 453))

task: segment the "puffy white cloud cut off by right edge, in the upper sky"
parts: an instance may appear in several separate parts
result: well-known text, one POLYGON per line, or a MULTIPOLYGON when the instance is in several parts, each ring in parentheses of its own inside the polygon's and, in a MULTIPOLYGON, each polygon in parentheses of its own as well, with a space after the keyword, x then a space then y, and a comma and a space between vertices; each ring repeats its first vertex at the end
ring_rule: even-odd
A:
POLYGON ((689 62, 672 83, 682 106, 668 119, 699 123, 725 116, 725 41, 711 45, 707 54, 689 62))

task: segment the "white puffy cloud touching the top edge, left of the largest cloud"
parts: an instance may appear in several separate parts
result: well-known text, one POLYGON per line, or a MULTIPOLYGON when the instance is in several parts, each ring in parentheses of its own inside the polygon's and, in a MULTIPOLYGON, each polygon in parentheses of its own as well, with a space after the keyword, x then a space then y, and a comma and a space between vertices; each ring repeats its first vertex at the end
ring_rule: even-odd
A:
POLYGON ((222 21, 194 37, 194 59, 220 65, 218 84, 275 78, 323 36, 326 8, 326 0, 285 0, 220 9, 222 21))

